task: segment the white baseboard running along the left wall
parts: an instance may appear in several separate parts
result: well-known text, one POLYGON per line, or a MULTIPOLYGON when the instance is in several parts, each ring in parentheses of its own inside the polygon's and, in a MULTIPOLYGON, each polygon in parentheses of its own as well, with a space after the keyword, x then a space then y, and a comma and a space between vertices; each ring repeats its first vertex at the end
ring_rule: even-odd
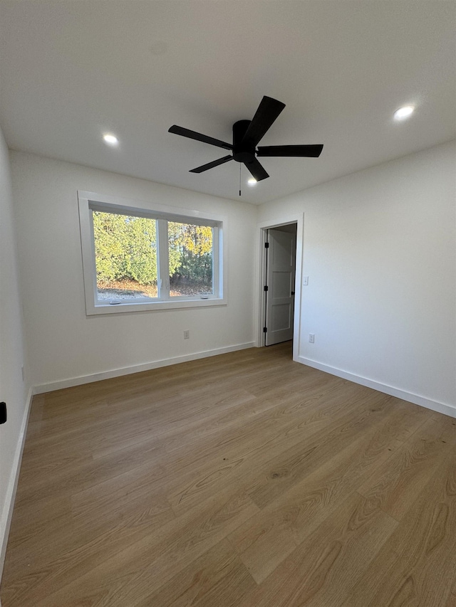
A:
MULTIPOLYGON (((3 573, 3 567, 5 563, 6 555, 6 544, 8 544, 9 529, 11 527, 11 518, 13 517, 14 500, 16 498, 17 483, 19 481, 19 472, 21 471, 22 453, 24 452, 24 443, 27 433, 28 416, 30 415, 31 401, 33 391, 28 391, 26 407, 24 410, 24 416, 22 418, 21 430, 19 431, 19 437, 16 445, 16 453, 14 453, 13 467, 11 468, 11 475, 8 481, 8 487, 6 487, 6 500, 4 504, 4 510, 1 514, 0 520, 0 581, 1 574, 3 573)), ((1 607, 1 603, 0 603, 1 607)))

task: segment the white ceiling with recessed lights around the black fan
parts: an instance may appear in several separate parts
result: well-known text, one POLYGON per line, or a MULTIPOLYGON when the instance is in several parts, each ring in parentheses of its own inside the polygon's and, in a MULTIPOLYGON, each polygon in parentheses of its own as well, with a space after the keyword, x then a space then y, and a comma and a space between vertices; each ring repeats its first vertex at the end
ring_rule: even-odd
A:
POLYGON ((456 135, 456 4, 446 0, 0 0, 0 124, 12 149, 239 200, 239 164, 202 174, 263 95, 286 108, 261 145, 259 204, 456 135), (410 120, 393 111, 413 103, 410 120), (103 132, 120 139, 103 144, 103 132))

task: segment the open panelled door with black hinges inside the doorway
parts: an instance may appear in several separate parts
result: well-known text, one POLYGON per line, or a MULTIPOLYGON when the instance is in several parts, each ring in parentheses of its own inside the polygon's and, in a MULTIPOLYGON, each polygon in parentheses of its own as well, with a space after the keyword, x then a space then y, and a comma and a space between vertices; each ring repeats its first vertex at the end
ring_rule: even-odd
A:
POLYGON ((293 339, 296 236, 268 230, 266 261, 266 346, 293 339))

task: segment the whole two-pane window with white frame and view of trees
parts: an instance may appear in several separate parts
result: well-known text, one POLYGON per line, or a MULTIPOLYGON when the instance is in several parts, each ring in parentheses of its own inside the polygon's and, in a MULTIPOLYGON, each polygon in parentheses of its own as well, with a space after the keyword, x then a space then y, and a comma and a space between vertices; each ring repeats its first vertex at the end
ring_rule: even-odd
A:
POLYGON ((78 192, 86 312, 226 303, 223 221, 78 192))

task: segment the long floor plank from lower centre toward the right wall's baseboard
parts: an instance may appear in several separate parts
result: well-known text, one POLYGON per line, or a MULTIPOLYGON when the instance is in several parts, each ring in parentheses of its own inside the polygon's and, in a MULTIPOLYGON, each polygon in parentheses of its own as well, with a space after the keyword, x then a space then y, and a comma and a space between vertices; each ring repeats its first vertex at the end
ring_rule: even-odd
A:
MULTIPOLYGON (((405 426, 413 428, 413 414, 412 407, 398 404, 386 418, 229 535, 257 583, 335 512, 351 492, 376 475, 383 462, 390 460, 402 445, 397 437, 408 436, 405 426), (408 418, 404 416, 405 409, 408 418)), ((415 423, 423 423, 420 412, 415 423)))

